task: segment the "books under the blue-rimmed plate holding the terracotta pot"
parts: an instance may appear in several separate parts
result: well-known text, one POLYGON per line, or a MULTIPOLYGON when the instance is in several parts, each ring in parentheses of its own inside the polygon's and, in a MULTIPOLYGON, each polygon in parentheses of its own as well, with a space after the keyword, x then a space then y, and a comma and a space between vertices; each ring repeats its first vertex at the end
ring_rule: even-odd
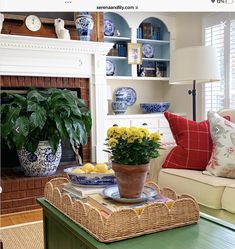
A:
POLYGON ((155 198, 151 198, 151 200, 147 202, 131 204, 116 202, 110 198, 104 197, 101 194, 93 194, 87 198, 87 203, 108 215, 112 212, 120 211, 123 209, 135 209, 138 214, 141 214, 143 208, 147 204, 165 203, 170 208, 173 203, 173 200, 168 197, 157 196, 155 198))

